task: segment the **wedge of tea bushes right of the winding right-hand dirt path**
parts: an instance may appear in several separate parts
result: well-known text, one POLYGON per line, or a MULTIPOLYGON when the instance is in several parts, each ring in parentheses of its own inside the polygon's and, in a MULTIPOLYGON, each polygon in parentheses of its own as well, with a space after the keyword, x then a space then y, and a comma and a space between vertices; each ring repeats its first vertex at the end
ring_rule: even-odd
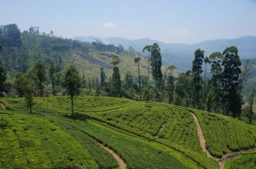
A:
POLYGON ((229 116, 192 110, 197 115, 207 149, 214 156, 222 156, 227 150, 249 149, 256 144, 256 127, 229 116))

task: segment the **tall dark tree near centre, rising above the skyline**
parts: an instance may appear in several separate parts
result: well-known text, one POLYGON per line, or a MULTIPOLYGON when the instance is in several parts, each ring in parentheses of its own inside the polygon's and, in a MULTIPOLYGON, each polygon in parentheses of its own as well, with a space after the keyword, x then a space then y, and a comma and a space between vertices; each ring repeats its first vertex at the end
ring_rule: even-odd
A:
POLYGON ((161 54, 160 54, 160 47, 157 43, 154 43, 153 45, 147 45, 143 48, 144 50, 148 50, 150 53, 150 65, 152 67, 152 76, 154 79, 154 93, 155 93, 155 99, 159 100, 157 98, 158 94, 157 93, 157 82, 160 82, 162 79, 162 71, 161 71, 161 66, 162 66, 162 59, 161 59, 161 54))

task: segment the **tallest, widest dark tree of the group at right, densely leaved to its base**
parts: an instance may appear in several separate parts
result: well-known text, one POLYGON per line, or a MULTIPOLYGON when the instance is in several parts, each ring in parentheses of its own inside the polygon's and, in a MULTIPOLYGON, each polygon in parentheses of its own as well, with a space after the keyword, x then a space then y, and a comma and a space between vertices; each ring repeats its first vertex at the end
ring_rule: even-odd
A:
POLYGON ((241 60, 235 46, 226 48, 223 52, 224 59, 222 65, 224 80, 224 101, 226 101, 226 114, 234 117, 241 115, 241 93, 240 75, 241 60))

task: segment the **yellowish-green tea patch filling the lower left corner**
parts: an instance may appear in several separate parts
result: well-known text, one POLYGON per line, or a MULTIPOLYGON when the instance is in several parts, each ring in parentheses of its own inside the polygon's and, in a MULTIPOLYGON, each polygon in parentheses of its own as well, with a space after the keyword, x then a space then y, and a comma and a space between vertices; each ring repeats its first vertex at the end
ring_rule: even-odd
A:
POLYGON ((3 112, 0 121, 0 168, 97 167, 84 146, 49 121, 3 112))

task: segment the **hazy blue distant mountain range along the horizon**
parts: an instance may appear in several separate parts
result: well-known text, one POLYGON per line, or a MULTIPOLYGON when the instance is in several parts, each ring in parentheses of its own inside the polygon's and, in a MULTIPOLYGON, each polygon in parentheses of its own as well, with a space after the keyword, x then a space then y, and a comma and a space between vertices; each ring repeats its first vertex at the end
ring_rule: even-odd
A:
POLYGON ((179 70, 191 69, 194 52, 197 48, 204 50, 205 56, 208 56, 212 54, 212 52, 223 52, 225 48, 233 45, 238 48, 241 59, 256 58, 256 37, 218 39, 195 44, 166 43, 148 38, 129 40, 121 37, 73 37, 73 39, 83 42, 94 42, 96 39, 99 39, 105 44, 121 44, 124 48, 132 47, 142 54, 145 45, 157 42, 161 48, 160 52, 162 54, 163 63, 166 65, 175 65, 179 70))

